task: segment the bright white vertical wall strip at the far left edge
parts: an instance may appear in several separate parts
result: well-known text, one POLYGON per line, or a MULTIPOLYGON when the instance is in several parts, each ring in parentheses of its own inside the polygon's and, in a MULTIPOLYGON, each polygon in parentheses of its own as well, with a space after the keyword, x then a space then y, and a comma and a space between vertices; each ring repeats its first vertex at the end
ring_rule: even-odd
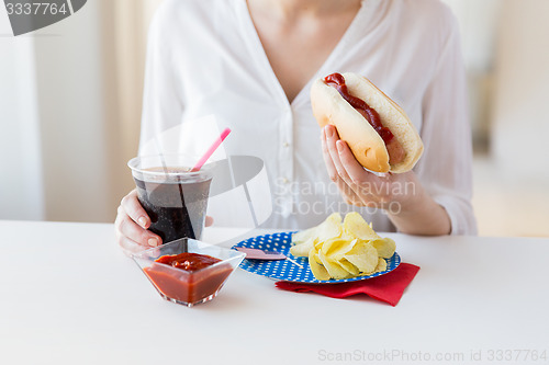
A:
POLYGON ((0 11, 0 219, 45 217, 36 95, 33 38, 0 11))

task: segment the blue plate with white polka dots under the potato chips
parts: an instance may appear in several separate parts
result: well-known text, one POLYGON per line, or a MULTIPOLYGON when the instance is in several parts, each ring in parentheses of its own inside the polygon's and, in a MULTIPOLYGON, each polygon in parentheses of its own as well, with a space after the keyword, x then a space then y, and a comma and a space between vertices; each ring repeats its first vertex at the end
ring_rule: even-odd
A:
POLYGON ((312 284, 336 284, 336 283, 347 283, 363 281, 370 277, 380 276, 392 272, 401 263, 401 258, 395 252, 391 259, 386 260, 386 270, 374 273, 371 275, 343 278, 343 280, 330 280, 330 281, 318 281, 314 277, 311 267, 309 266, 307 258, 295 258, 290 253, 290 248, 292 246, 292 233, 293 232, 280 232, 272 235, 257 236, 248 238, 233 247, 259 249, 264 251, 277 251, 288 256, 287 260, 278 261, 266 261, 266 260, 244 260, 240 263, 240 267, 247 272, 258 274, 261 276, 267 276, 277 281, 294 282, 294 283, 312 283, 312 284))

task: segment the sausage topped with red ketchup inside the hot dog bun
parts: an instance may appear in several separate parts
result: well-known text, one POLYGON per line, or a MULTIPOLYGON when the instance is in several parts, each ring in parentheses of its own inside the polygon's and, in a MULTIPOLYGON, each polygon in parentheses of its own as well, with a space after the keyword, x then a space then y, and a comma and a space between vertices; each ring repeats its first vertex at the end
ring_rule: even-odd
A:
POLYGON ((340 73, 332 73, 324 78, 326 84, 335 88, 339 94, 345 99, 352 107, 357 110, 370 125, 378 132, 380 137, 385 142, 385 147, 389 153, 390 163, 399 163, 404 160, 405 152, 401 144, 393 139, 394 135, 388 127, 381 124, 380 116, 373 107, 370 107, 363 100, 352 96, 347 90, 347 84, 345 83, 345 78, 340 73))

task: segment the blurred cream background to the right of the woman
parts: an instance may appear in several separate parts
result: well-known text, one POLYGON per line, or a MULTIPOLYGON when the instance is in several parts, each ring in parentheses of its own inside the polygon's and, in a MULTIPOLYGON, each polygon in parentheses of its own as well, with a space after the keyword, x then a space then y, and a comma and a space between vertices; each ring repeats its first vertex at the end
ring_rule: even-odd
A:
POLYGON ((549 236, 549 1, 445 1, 461 25, 473 130, 490 141, 473 167, 479 231, 549 236))

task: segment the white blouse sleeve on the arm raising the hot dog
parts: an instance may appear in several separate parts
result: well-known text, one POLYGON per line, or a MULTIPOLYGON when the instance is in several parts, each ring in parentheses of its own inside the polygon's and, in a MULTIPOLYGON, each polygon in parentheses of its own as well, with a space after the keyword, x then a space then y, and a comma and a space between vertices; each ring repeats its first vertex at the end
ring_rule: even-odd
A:
POLYGON ((422 102, 425 152, 416 173, 448 213, 451 235, 477 235, 466 72, 457 21, 452 14, 446 18, 450 30, 422 102))

